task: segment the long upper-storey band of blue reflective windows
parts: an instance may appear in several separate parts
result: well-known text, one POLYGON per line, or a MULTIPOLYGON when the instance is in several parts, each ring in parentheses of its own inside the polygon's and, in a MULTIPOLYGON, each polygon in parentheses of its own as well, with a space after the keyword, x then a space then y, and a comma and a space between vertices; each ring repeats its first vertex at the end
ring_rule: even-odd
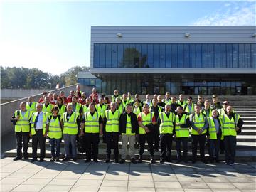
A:
POLYGON ((256 68, 256 43, 95 43, 94 68, 256 68))

